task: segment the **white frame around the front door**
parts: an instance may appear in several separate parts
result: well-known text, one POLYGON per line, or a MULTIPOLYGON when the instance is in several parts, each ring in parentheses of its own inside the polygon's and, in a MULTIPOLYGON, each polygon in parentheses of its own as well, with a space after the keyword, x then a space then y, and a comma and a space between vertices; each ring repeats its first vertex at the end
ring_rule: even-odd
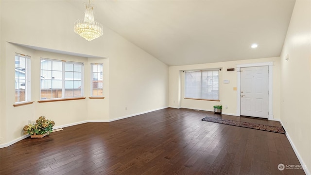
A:
POLYGON ((241 68, 268 66, 268 120, 274 120, 273 117, 273 62, 251 63, 237 65, 237 116, 241 116, 241 68))

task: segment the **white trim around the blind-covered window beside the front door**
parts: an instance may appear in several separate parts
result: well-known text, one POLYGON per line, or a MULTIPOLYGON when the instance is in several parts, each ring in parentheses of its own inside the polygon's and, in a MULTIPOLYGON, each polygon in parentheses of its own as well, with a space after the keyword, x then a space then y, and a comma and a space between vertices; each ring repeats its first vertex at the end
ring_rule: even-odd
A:
MULTIPOLYGON (((213 69, 203 69, 203 70, 183 70, 184 72, 184 99, 190 99, 190 100, 204 100, 204 101, 216 101, 216 102, 220 102, 220 70, 221 68, 213 68, 213 69), (189 73, 189 72, 198 72, 198 71, 218 71, 218 99, 203 99, 203 98, 191 98, 191 97, 186 97, 186 73, 189 73)), ((201 83, 202 83, 202 80, 201 80, 201 83)))

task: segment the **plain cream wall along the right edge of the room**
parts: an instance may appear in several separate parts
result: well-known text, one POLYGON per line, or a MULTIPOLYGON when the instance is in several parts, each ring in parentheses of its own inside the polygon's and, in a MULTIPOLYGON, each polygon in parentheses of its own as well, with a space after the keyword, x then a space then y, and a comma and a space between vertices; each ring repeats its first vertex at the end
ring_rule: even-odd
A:
POLYGON ((281 53, 281 121, 311 170, 311 0, 296 0, 281 53), (289 55, 288 61, 286 55, 289 55))

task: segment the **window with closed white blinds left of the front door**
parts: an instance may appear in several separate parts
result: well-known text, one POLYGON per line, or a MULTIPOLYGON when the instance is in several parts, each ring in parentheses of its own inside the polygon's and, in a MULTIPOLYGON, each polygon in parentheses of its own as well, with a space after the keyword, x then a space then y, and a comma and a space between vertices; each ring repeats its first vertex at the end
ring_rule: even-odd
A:
POLYGON ((185 98, 219 100, 219 71, 186 71, 185 98))

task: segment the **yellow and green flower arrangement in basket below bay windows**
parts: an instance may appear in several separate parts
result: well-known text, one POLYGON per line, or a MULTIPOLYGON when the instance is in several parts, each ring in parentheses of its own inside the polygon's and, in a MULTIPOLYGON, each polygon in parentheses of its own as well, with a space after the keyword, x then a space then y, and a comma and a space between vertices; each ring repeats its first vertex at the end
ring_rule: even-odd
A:
POLYGON ((31 138, 43 138, 52 132, 54 125, 54 121, 47 120, 44 116, 41 116, 34 123, 25 125, 23 130, 25 133, 28 133, 31 138))

